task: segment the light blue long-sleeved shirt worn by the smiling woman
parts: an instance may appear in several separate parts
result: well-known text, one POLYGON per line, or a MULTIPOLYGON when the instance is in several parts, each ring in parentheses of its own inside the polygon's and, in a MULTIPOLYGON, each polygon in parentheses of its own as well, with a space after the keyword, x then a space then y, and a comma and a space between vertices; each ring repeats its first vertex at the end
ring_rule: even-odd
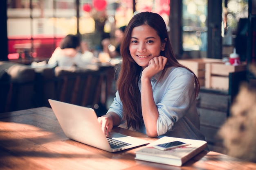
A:
MULTIPOLYGON (((204 135, 200 132, 195 103, 194 74, 180 67, 167 68, 160 80, 161 74, 162 71, 151 78, 153 97, 159 113, 158 136, 205 140, 204 135)), ((141 77, 138 86, 141 91, 141 77)), ((108 112, 110 111, 117 113, 121 119, 123 118, 123 106, 118 91, 108 112)), ((139 132, 146 134, 144 124, 139 132)))

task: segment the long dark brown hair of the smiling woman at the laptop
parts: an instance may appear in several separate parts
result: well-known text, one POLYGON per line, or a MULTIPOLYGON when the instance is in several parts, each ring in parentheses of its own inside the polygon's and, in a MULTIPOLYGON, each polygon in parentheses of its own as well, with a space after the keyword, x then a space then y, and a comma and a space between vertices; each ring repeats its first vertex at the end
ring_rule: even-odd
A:
MULTIPOLYGON (((166 24, 159 14, 141 12, 132 17, 125 29, 124 40, 121 43, 120 50, 123 61, 119 77, 117 79, 117 89, 123 103, 123 119, 126 120, 128 128, 131 127, 135 130, 139 130, 143 124, 141 111, 141 94, 138 87, 139 75, 142 68, 132 59, 129 46, 132 29, 144 24, 154 28, 161 41, 166 43, 164 51, 160 52, 161 56, 167 58, 167 63, 163 70, 162 76, 168 67, 176 66, 186 68, 178 63, 178 61, 175 59, 166 29, 166 24), (167 41, 165 41, 166 39, 167 41)), ((192 72, 191 70, 189 71, 192 72)), ((195 96, 198 96, 199 88, 199 81, 195 76, 195 96)))

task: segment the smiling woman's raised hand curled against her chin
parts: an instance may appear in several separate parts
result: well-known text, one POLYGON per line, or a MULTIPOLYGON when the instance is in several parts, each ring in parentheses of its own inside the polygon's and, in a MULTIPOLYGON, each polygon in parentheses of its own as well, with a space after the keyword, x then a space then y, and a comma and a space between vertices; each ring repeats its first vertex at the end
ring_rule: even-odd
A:
POLYGON ((152 78, 155 74, 157 74, 159 71, 164 69, 166 62, 167 62, 166 57, 163 57, 163 56, 154 57, 148 62, 148 67, 146 67, 142 71, 142 76, 147 78, 152 78))

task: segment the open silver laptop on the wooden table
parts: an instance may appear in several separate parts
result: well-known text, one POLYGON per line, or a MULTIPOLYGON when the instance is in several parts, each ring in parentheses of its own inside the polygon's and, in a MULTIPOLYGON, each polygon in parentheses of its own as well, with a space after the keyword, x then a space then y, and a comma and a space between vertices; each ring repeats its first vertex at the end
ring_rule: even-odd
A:
POLYGON ((70 139, 108 152, 117 152, 149 143, 143 139, 115 132, 105 135, 95 111, 91 108, 52 99, 49 99, 49 103, 66 137, 70 139))

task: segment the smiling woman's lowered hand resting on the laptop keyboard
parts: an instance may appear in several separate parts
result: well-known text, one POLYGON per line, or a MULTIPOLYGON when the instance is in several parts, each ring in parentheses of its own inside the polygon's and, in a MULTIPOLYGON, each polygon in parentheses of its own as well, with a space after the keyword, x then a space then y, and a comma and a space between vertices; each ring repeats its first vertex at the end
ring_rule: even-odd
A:
POLYGON ((98 122, 101 125, 101 129, 104 134, 109 135, 113 128, 113 119, 110 114, 106 114, 98 118, 98 122))

